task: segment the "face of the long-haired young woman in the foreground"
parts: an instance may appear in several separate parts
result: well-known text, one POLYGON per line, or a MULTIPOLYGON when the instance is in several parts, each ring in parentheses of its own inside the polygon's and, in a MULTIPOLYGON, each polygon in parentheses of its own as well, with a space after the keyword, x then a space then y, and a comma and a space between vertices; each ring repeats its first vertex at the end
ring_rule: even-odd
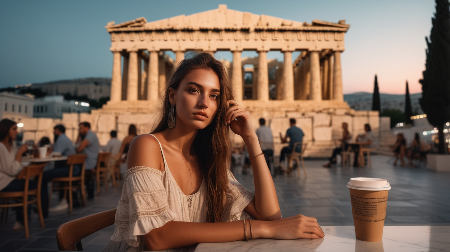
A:
POLYGON ((219 77, 214 71, 192 70, 180 82, 177 90, 169 90, 169 101, 176 107, 175 125, 184 123, 195 129, 204 129, 216 115, 219 96, 219 77))

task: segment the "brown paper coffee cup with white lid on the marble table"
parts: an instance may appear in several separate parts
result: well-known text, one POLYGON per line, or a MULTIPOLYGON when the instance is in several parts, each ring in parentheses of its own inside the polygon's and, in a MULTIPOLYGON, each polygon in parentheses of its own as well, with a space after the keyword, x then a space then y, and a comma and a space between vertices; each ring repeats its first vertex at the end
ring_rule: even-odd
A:
POLYGON ((347 187, 350 188, 356 239, 366 242, 381 241, 387 192, 391 186, 384 179, 351 178, 347 187))

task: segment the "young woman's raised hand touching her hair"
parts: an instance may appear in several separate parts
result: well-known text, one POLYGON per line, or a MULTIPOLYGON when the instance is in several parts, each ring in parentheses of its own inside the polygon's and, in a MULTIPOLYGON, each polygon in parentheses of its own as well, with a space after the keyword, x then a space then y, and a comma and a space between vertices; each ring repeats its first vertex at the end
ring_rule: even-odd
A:
POLYGON ((242 138, 255 135, 252 121, 250 120, 250 112, 237 104, 234 100, 228 101, 230 108, 225 113, 225 124, 229 124, 234 134, 242 136, 242 138), (237 118, 237 121, 234 120, 237 118))

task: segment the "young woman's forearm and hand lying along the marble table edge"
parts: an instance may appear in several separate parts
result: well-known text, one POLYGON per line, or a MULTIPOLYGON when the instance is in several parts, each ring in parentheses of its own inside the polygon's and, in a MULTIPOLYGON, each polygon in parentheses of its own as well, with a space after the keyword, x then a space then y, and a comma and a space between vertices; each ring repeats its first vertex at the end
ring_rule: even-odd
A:
MULTIPOLYGON (((246 221, 247 238, 250 223, 246 221)), ((279 220, 252 220, 252 238, 298 239, 320 238, 324 232, 314 217, 296 215, 279 220)), ((151 251, 185 247, 198 243, 223 243, 245 238, 243 220, 216 223, 169 221, 143 235, 151 251), (176 237, 176 239, 174 239, 176 237)))

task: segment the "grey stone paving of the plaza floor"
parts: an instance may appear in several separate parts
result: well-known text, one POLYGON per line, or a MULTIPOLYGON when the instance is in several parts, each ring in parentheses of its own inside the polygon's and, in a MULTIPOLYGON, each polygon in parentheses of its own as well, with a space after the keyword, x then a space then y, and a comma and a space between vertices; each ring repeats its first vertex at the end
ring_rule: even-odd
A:
MULTIPOLYGON (((391 157, 373 156, 372 168, 322 168, 324 160, 306 160, 307 179, 278 175, 274 178, 281 212, 284 217, 296 214, 315 216, 320 225, 353 225, 350 194, 346 187, 351 177, 386 178, 392 186, 387 203, 386 225, 450 225, 450 173, 436 173, 425 168, 395 167, 391 157)), ((253 190, 252 174, 236 178, 253 190)), ((102 188, 103 189, 103 188, 102 188)), ((117 207, 121 187, 104 189, 88 201, 85 208, 68 212, 50 213, 42 230, 36 213, 30 221, 30 239, 24 231, 13 231, 14 211, 9 211, 8 222, 0 225, 1 252, 58 251, 55 233, 58 225, 95 212, 117 207)), ((56 193, 53 203, 56 204, 56 193)), ((82 240, 84 251, 102 251, 108 244, 114 226, 82 240)))

